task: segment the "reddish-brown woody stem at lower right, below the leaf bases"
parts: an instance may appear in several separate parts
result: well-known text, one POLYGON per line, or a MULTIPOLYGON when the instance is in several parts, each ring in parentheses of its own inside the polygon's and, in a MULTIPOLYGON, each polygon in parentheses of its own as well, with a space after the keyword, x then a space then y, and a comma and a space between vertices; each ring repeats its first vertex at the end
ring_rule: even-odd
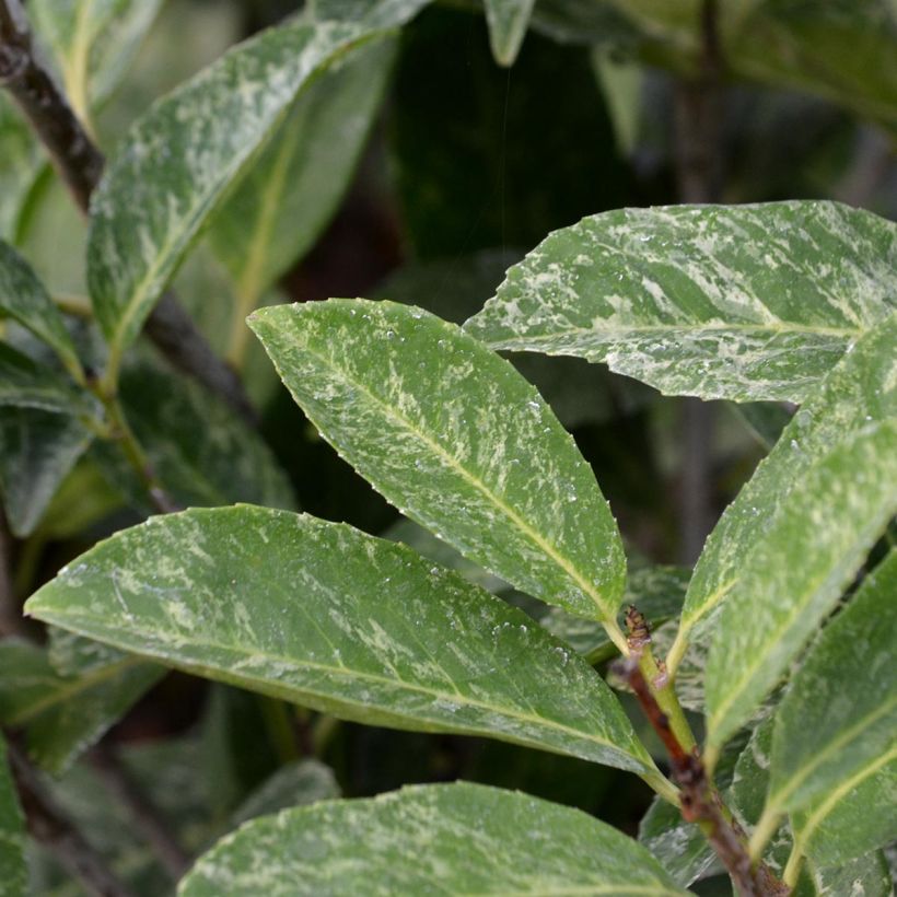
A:
POLYGON ((686 750, 676 737, 669 718, 661 710, 639 669, 638 656, 630 655, 618 661, 615 672, 632 688, 644 715, 669 755, 673 777, 680 789, 683 818, 701 828, 732 876, 738 894, 742 897, 787 897, 791 893, 790 888, 776 878, 765 863, 752 863, 744 829, 726 809, 708 778, 697 748, 686 750))

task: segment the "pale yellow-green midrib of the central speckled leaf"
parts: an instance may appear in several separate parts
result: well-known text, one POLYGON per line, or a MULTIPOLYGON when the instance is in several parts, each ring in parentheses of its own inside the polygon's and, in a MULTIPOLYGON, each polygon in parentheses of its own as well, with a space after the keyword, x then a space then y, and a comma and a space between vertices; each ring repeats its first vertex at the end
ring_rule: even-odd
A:
MULTIPOLYGON (((604 624, 605 627, 613 626, 616 624, 616 620, 611 614, 603 606, 601 599, 601 593, 594 589, 594 586, 589 582, 589 580, 583 576, 582 573, 576 569, 573 562, 564 557, 559 549, 551 545, 538 531, 534 529, 529 526, 526 521, 514 511, 509 504, 502 501, 479 477, 475 476, 473 473, 467 470, 462 464, 454 457, 449 451, 443 449, 435 440, 429 436, 426 432, 420 430, 416 427, 408 418, 401 415, 399 411, 396 410, 395 406, 389 405, 387 401, 382 399, 375 393, 373 393, 366 383, 354 380, 348 375, 346 369, 340 368, 336 364, 334 359, 328 358, 327 356, 323 356, 319 352, 315 352, 311 349, 307 342, 304 342, 303 346, 305 347, 305 351, 316 358, 318 361, 323 362, 326 366, 328 366, 333 371, 337 371, 342 375, 342 380, 350 386, 358 388, 360 392, 364 393, 371 401, 378 406, 387 417, 392 417, 394 421, 396 421, 399 427, 405 427, 412 435, 417 436, 421 442, 428 445, 435 455, 442 457, 453 470, 455 470, 462 479, 469 482, 475 489, 477 489, 488 501, 490 501, 499 511, 501 511, 510 521, 511 523, 516 526, 516 528, 532 541, 538 549, 540 549, 544 554, 546 554, 567 575, 569 575, 576 585, 592 599, 592 602, 597 607, 598 611, 601 613, 601 621, 604 624)), ((312 418, 313 415, 308 413, 308 417, 312 418)), ((327 429, 324 427, 319 428, 322 432, 327 429)), ((429 527, 428 527, 429 528, 429 527)), ((617 643, 617 640, 614 638, 614 634, 609 633, 611 640, 617 643)), ((619 646, 619 645, 618 645, 619 646)))

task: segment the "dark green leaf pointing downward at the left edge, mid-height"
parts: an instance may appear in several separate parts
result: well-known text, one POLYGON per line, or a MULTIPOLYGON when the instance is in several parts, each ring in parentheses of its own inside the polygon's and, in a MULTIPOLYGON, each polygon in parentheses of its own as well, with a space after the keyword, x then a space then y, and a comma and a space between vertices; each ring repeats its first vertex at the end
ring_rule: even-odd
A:
POLYGON ((91 439, 70 415, 0 407, 0 492, 13 535, 34 532, 91 439))

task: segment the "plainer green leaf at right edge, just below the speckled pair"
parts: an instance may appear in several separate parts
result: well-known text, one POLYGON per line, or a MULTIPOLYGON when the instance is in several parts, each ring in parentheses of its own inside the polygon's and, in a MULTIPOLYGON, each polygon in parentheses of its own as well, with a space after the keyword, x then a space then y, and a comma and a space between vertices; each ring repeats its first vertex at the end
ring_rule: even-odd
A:
POLYGON ((801 809, 897 743, 895 598, 892 551, 823 630, 776 712, 766 812, 801 809))

